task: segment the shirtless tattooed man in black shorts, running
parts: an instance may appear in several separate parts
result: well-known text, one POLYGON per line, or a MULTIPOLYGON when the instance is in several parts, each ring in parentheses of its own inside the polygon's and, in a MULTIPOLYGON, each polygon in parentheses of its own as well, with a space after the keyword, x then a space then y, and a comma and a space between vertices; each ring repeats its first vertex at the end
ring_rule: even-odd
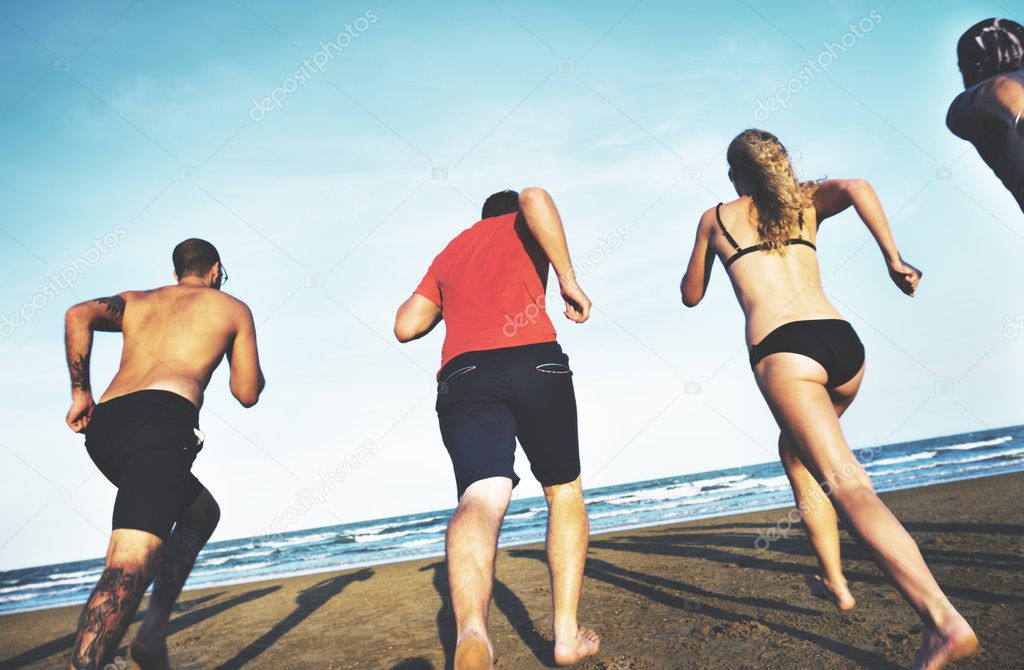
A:
POLYGON ((169 667, 171 608, 220 518, 190 471, 203 448, 203 391, 225 354, 231 393, 243 407, 263 390, 252 312, 219 290, 227 275, 217 250, 185 240, 173 261, 177 285, 89 300, 66 316, 67 422, 85 434, 89 457, 118 488, 106 566, 79 620, 73 669, 113 661, 151 581, 131 656, 143 669, 169 667), (99 405, 89 383, 95 331, 124 334, 121 368, 99 405))

